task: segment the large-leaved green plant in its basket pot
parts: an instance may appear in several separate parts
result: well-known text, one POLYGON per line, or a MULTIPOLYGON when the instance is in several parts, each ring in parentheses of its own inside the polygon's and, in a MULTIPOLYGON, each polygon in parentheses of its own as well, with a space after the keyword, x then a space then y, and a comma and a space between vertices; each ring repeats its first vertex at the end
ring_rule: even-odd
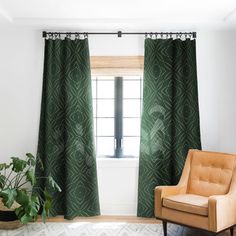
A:
POLYGON ((25 159, 11 157, 9 164, 0 164, 0 228, 18 228, 35 221, 39 214, 43 222, 48 217, 52 197, 37 181, 44 178, 51 188, 61 189, 51 176, 35 176, 36 161, 43 168, 42 161, 31 153, 25 159))

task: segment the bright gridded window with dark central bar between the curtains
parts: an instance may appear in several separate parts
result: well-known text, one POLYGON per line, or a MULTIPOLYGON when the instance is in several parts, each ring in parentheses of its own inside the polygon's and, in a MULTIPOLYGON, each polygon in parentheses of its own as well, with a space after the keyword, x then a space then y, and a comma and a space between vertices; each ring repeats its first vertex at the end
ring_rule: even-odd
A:
POLYGON ((93 76, 97 157, 137 157, 142 105, 141 76, 93 76))

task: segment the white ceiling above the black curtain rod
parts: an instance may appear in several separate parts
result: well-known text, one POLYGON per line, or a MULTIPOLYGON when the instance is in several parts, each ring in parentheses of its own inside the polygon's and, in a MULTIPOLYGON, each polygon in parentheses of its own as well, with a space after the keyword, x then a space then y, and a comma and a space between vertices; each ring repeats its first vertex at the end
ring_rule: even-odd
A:
POLYGON ((0 27, 236 30, 236 0, 0 0, 0 27))

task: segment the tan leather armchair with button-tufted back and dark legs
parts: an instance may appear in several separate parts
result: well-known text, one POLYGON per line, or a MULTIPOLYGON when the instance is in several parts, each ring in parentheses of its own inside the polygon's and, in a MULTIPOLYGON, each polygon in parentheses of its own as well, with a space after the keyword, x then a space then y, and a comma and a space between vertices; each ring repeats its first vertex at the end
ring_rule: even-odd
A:
POLYGON ((236 224, 236 155, 190 150, 176 186, 155 188, 155 216, 167 222, 210 231, 236 224))

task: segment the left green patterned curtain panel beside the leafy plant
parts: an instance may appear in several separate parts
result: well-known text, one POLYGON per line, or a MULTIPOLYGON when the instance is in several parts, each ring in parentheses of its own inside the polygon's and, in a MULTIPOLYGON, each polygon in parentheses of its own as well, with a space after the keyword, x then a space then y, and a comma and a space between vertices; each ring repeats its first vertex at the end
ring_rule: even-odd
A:
POLYGON ((38 164, 36 175, 62 188, 51 189, 52 216, 100 214, 88 39, 45 40, 38 157, 44 170, 38 164))

